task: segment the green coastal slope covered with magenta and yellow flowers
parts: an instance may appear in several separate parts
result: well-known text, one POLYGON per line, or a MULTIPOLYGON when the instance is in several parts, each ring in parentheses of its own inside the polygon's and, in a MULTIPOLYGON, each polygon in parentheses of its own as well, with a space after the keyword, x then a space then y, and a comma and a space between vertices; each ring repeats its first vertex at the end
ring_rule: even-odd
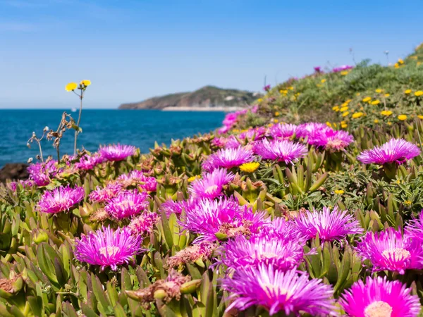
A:
POLYGON ((33 164, 0 187, 0 315, 418 316, 422 49, 149 154, 33 164))

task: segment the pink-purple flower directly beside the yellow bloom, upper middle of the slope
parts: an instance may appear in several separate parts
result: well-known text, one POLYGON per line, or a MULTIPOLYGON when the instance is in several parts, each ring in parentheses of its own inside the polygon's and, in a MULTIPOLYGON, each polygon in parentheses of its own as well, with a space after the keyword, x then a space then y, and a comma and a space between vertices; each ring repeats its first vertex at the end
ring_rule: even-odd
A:
POLYGON ((238 147, 236 149, 220 149, 210 155, 203 163, 204 170, 211 172, 215 168, 233 168, 254 161, 254 155, 250 149, 238 147))

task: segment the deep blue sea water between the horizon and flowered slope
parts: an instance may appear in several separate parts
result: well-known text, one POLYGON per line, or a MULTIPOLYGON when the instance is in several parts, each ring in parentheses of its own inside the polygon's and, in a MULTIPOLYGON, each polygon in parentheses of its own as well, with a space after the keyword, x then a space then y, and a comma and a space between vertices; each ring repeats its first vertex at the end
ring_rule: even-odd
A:
MULTIPOLYGON (((66 111, 71 113, 71 111, 66 111)), ((5 163, 26 162, 39 153, 37 144, 28 149, 27 140, 32 131, 42 135, 47 125, 56 130, 63 110, 0 110, 0 167, 5 163)), ((78 112, 71 113, 77 120, 78 112)), ((147 153, 159 144, 170 144, 171 139, 180 139, 198 132, 210 132, 221 125, 223 112, 185 112, 156 110, 93 110, 84 109, 78 136, 78 148, 96 151, 99 144, 132 144, 147 153)), ((64 133, 61 154, 73 154, 74 130, 64 133)), ((56 150, 52 141, 42 140, 44 159, 56 150)))

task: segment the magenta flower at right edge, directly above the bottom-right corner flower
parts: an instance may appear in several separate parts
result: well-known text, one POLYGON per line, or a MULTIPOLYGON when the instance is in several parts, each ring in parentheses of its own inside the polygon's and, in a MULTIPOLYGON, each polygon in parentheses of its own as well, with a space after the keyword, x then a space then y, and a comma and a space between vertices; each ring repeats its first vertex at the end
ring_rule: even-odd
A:
POLYGON ((400 231, 388 228, 382 232, 367 232, 357 245, 357 252, 370 260, 373 271, 396 271, 404 274, 407 269, 423 268, 422 243, 403 237, 400 231))

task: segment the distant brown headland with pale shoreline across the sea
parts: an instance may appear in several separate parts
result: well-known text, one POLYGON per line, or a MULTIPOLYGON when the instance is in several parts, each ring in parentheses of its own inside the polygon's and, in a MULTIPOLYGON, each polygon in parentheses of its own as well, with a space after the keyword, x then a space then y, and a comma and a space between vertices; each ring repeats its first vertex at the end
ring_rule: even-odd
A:
POLYGON ((163 111, 236 111, 252 104, 259 92, 205 86, 195 92, 178 92, 140 102, 121 104, 119 109, 159 109, 163 111))

